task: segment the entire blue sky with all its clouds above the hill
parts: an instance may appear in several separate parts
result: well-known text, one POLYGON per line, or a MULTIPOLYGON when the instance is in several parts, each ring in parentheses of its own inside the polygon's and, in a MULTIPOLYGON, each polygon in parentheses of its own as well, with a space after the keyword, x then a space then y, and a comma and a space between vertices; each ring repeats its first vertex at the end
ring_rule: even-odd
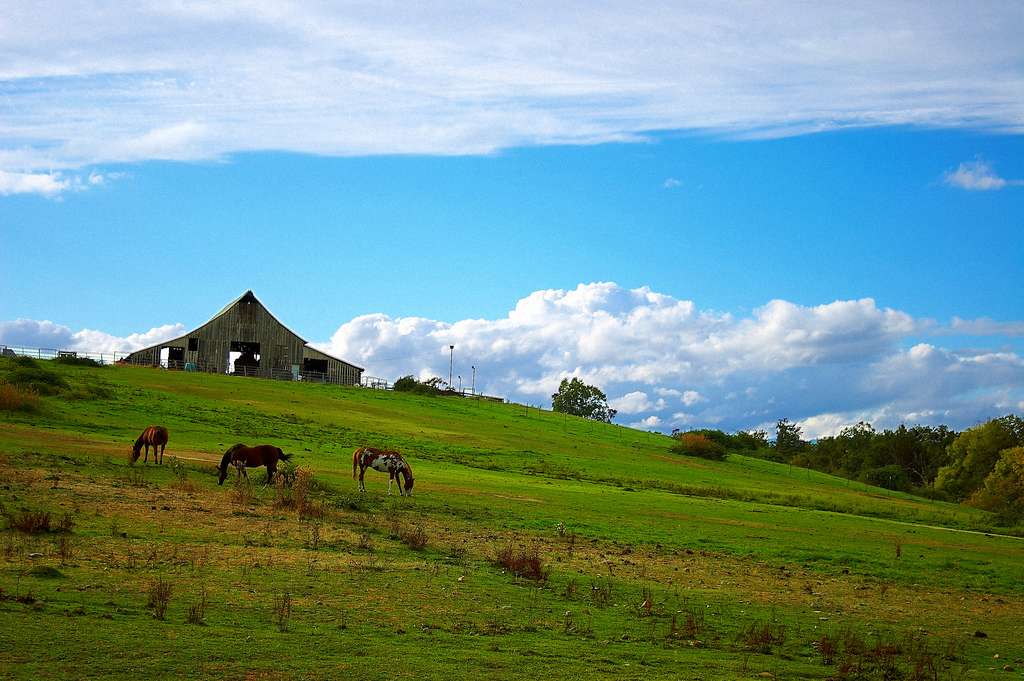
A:
POLYGON ((637 427, 1024 411, 1019 6, 130 11, 0 25, 0 343, 251 288, 374 374, 458 339, 637 427))

